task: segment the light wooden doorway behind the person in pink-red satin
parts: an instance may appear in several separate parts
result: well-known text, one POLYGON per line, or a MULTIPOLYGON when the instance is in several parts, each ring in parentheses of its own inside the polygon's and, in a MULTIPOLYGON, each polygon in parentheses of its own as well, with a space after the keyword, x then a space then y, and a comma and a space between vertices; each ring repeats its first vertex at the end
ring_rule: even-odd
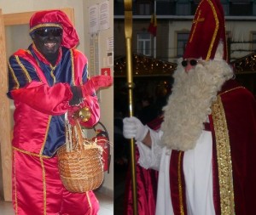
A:
MULTIPOLYGON (((74 22, 73 8, 62 8, 69 19, 74 22)), ((19 48, 27 48, 31 43, 29 37, 29 20, 36 11, 2 14, 0 8, 0 196, 4 201, 11 201, 11 139, 13 130, 13 112, 15 107, 6 96, 8 90, 7 59, 19 48), (5 54, 4 54, 5 53, 5 54)))

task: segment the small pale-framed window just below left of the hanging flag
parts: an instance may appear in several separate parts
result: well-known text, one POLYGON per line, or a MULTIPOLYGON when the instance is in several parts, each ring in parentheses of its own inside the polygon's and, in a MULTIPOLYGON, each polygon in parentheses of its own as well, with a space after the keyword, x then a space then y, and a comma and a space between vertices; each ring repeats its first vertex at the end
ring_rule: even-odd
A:
POLYGON ((151 35, 148 32, 137 33, 137 53, 151 56, 151 35))

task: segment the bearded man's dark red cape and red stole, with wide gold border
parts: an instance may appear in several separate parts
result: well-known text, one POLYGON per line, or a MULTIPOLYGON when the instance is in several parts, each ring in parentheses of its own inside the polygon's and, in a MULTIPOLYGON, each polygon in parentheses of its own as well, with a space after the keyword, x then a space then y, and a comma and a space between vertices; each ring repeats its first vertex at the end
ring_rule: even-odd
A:
MULTIPOLYGON (((212 187, 215 212, 253 215, 256 205, 256 102, 253 94, 233 80, 226 82, 218 93, 218 102, 212 105, 212 115, 209 118, 209 129, 212 131, 212 187)), ((177 164, 177 153, 172 151, 172 178, 177 169, 183 171, 182 162, 180 168, 172 165, 177 164)), ((152 172, 154 171, 145 170, 137 164, 138 214, 154 214, 157 174, 152 172), (146 207, 148 209, 145 209, 146 207)), ((181 175, 183 176, 183 173, 181 175)), ((184 183, 184 180, 180 183, 184 183)), ((185 187, 185 184, 178 185, 185 187)), ((179 193, 174 189, 175 186, 177 187, 177 184, 171 184, 171 195, 176 196, 172 197, 174 212, 186 214, 186 203, 179 201, 186 199, 184 196, 180 198, 185 192, 183 190, 179 193)), ((128 189, 125 195, 129 200, 125 214, 132 214, 131 189, 128 189)))

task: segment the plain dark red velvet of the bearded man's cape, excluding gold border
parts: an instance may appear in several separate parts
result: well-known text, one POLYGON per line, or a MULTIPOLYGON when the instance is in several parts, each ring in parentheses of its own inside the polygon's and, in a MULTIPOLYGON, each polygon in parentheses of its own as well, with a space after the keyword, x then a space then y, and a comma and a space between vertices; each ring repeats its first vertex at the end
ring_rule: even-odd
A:
MULTIPOLYGON (((230 156, 236 215, 255 214, 256 198, 256 102, 253 94, 241 88, 235 81, 226 82, 219 93, 230 138, 230 156)), ((216 127, 213 130, 213 159, 215 170, 216 214, 220 212, 220 196, 216 150, 216 127), (214 147, 215 146, 215 147, 214 147)), ((222 190, 223 191, 223 190, 222 190)), ((222 208, 223 210, 223 208, 222 208)))

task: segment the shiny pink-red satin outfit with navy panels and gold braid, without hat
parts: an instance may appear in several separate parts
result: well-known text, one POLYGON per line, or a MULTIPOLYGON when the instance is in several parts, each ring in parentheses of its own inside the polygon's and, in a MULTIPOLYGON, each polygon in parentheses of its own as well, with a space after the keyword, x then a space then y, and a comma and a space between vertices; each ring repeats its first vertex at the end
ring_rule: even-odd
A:
MULTIPOLYGON (((55 67, 32 45, 9 58, 8 94, 15 103, 12 192, 16 214, 97 214, 99 202, 93 191, 71 193, 61 184, 55 156, 66 142, 64 113, 72 108, 70 86, 87 82, 87 77, 87 59, 77 49, 62 47, 55 67)), ((96 97, 91 98, 91 116, 97 119, 99 105, 96 97)))

